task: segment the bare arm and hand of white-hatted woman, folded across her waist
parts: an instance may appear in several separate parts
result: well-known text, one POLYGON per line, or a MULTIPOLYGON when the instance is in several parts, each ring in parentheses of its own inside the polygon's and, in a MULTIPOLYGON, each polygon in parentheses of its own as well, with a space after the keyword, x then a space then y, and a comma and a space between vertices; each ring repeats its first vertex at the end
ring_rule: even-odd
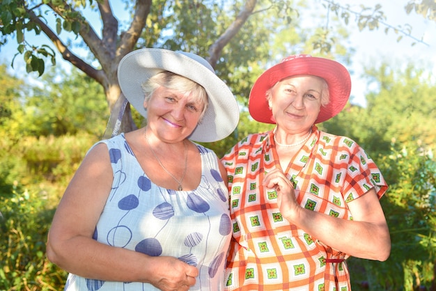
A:
POLYGON ((65 190, 49 230, 47 258, 86 278, 146 282, 162 290, 194 285, 198 270, 177 258, 151 257, 92 238, 112 180, 107 147, 101 143, 88 153, 65 190))

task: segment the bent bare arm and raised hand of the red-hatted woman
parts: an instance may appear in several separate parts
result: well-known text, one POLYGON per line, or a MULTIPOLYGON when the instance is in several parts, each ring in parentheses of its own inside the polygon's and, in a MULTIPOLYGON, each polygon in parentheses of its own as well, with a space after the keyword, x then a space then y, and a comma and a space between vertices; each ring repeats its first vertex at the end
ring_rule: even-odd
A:
POLYGON ((280 212, 324 244, 357 258, 387 260, 391 251, 389 229, 375 189, 348 203, 353 220, 338 219, 300 207, 292 184, 281 170, 265 175, 265 186, 277 189, 280 212))

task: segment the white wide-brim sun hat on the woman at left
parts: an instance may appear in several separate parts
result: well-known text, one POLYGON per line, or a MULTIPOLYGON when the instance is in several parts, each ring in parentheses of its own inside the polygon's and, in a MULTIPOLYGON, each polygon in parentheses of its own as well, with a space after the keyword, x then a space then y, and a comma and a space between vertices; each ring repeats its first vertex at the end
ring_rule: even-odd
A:
POLYGON ((118 65, 121 91, 143 117, 147 118, 147 111, 143 107, 145 95, 141 85, 164 70, 191 79, 208 93, 208 108, 189 139, 219 141, 235 130, 240 114, 238 102, 208 61, 196 54, 168 49, 137 49, 125 55, 118 65))

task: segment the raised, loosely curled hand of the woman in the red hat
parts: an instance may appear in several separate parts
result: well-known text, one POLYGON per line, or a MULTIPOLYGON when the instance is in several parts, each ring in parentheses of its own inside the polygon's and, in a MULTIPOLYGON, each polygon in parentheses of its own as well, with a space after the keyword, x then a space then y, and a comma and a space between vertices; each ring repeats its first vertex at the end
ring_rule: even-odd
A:
POLYGON ((275 168, 265 175, 263 185, 277 191, 277 205, 281 215, 288 221, 298 213, 300 207, 295 198, 295 191, 292 182, 279 168, 275 168))

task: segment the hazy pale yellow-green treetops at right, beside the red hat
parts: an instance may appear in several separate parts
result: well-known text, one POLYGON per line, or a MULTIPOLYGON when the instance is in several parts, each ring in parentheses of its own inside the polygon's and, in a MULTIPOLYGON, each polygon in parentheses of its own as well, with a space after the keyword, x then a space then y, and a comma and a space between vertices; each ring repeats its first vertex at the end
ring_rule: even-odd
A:
POLYGON ((389 155, 393 141, 434 145, 436 80, 428 73, 432 68, 417 63, 401 65, 403 68, 382 63, 380 68, 366 68, 368 87, 374 88, 366 95, 366 108, 348 104, 322 124, 324 129, 354 137, 370 155, 389 155))

